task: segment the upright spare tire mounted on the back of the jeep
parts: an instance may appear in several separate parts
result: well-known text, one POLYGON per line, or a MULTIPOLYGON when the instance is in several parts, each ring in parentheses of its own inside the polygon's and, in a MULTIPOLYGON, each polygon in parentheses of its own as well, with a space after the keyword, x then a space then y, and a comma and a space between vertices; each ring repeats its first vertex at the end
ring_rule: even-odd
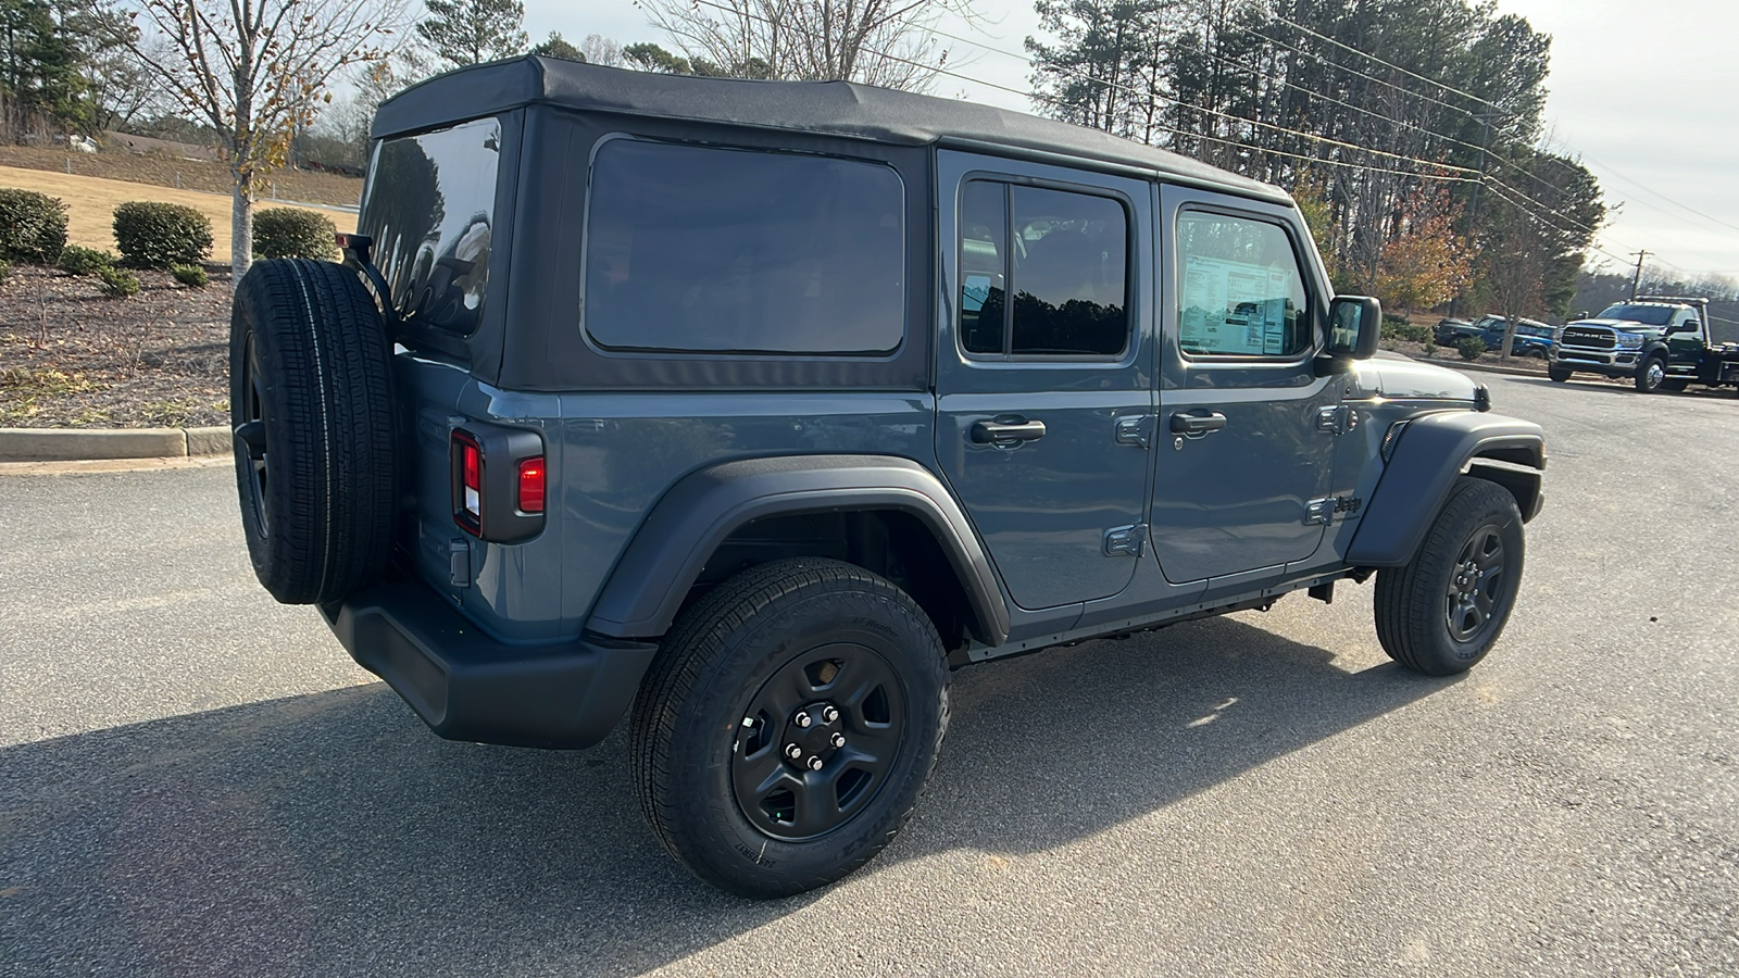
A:
POLYGON ((230 423, 254 574, 283 604, 343 599, 391 552, 391 345, 355 271, 257 261, 230 315, 230 423))

